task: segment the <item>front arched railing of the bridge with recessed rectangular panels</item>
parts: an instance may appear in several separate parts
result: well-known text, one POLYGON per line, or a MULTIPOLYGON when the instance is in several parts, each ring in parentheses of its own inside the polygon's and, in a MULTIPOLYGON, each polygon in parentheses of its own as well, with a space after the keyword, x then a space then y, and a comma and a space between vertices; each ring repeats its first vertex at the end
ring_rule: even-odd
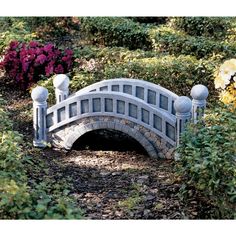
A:
POLYGON ((51 132, 75 120, 91 116, 113 116, 133 121, 176 144, 176 118, 144 101, 119 92, 91 92, 69 97, 50 107, 46 128, 51 132))

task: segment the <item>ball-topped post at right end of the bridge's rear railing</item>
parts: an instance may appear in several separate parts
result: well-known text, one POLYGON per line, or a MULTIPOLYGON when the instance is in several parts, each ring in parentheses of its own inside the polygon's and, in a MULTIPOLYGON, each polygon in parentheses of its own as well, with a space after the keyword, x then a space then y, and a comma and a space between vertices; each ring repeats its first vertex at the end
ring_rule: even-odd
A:
POLYGON ((208 94, 207 87, 201 84, 195 85, 191 89, 192 119, 195 124, 204 116, 208 94))

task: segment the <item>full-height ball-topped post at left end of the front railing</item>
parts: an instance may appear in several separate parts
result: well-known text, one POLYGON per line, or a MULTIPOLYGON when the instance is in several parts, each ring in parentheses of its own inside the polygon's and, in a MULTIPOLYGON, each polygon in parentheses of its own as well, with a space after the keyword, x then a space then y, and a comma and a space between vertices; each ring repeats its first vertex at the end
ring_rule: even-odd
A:
POLYGON ((33 123, 34 123, 34 140, 35 147, 45 147, 47 142, 46 134, 46 114, 48 90, 44 87, 37 86, 32 90, 33 99, 33 123))

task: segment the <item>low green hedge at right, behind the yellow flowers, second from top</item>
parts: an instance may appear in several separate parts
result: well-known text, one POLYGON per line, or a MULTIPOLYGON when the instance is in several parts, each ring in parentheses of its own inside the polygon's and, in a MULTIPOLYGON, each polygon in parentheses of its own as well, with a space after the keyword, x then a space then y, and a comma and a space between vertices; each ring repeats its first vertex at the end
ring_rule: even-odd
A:
POLYGON ((153 48, 157 52, 192 55, 197 58, 206 58, 213 54, 229 58, 236 53, 236 47, 232 44, 202 36, 188 36, 168 27, 150 30, 150 35, 153 48))

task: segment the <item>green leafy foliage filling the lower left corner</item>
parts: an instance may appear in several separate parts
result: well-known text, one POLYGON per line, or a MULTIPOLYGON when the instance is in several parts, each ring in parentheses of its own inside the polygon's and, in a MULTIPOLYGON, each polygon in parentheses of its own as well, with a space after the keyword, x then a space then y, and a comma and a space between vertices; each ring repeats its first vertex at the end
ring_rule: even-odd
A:
POLYGON ((0 99, 0 219, 81 218, 65 184, 53 189, 46 180, 36 183, 28 178, 25 163, 31 161, 22 151, 22 136, 12 131, 3 103, 0 99))

